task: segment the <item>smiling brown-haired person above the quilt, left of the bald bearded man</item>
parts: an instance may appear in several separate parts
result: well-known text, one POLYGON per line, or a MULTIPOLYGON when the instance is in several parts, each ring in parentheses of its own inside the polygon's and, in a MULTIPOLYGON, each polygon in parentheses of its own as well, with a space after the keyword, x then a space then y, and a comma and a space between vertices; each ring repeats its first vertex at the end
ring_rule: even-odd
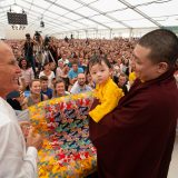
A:
POLYGON ((65 81, 58 79, 55 83, 53 98, 63 97, 70 95, 70 92, 65 90, 65 81))

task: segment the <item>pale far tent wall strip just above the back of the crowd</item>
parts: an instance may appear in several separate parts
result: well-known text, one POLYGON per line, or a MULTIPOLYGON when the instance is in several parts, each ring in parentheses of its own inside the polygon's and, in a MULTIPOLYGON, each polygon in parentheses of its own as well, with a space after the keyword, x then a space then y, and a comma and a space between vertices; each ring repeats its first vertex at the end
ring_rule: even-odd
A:
MULTIPOLYGON (((136 28, 136 29, 103 29, 103 30, 80 30, 80 31, 68 31, 62 33, 53 33, 52 37, 57 39, 65 39, 65 37, 71 38, 71 34, 75 39, 112 39, 112 38, 140 38, 145 33, 155 30, 157 28, 136 28)), ((33 37, 33 30, 12 30, 12 28, 6 27, 0 29, 0 38, 6 39, 24 39, 26 33, 30 33, 33 37)), ((43 37, 44 34, 41 33, 43 37)))

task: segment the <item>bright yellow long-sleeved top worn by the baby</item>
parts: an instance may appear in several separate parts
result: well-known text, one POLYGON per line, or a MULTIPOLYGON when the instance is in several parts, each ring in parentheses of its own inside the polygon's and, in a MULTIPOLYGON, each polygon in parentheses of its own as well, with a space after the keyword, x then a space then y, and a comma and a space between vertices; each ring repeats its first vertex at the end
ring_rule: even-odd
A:
POLYGON ((108 86, 105 96, 102 98, 101 105, 98 105, 95 109, 89 112, 89 116, 96 121, 99 122, 103 116, 112 111, 120 98, 123 97, 122 89, 117 86, 108 86))

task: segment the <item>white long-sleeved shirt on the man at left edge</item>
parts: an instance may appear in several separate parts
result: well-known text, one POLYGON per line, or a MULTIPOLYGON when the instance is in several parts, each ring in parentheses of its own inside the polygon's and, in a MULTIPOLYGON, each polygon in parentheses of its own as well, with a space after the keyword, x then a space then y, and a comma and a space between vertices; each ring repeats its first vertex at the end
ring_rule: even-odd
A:
POLYGON ((36 178, 37 149, 26 142, 16 112, 0 97, 0 178, 36 178))

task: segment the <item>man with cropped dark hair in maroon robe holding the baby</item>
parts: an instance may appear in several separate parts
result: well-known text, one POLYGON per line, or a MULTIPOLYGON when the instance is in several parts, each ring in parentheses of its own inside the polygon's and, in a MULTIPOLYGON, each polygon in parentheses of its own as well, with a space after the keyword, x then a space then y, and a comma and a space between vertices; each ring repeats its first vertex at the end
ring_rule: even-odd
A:
MULTIPOLYGON (((137 80, 117 108, 89 122, 99 178, 166 178, 178 118, 178 38, 158 29, 134 50, 137 80)), ((97 105, 95 100, 92 108, 97 105)), ((92 109, 91 108, 91 109, 92 109)))

